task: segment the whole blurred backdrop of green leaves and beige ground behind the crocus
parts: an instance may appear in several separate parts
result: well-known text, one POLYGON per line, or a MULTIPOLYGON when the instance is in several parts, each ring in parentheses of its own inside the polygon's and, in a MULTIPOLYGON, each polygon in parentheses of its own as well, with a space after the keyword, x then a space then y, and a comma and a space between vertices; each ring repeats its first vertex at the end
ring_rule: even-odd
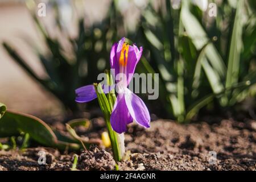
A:
MULTIPOLYGON (((143 46, 159 73, 155 118, 255 118, 255 1, 0 1, 0 101, 39 117, 93 111, 74 90, 109 68, 114 42, 143 46), (44 3, 44 4, 42 4, 44 3), (43 15, 46 5, 46 16, 43 15)), ((153 117, 154 118, 154 117, 153 117)))

